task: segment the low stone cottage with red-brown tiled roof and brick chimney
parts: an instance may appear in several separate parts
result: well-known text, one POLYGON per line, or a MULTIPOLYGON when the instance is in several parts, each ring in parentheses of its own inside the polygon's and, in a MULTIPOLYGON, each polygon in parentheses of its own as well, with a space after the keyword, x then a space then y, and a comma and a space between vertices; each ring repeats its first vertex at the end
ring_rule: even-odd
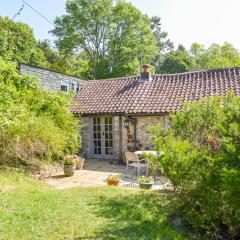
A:
POLYGON ((153 149, 148 128, 168 128, 168 115, 182 101, 240 95, 240 68, 86 81, 71 105, 81 116, 82 151, 87 159, 124 161, 126 151, 153 149))

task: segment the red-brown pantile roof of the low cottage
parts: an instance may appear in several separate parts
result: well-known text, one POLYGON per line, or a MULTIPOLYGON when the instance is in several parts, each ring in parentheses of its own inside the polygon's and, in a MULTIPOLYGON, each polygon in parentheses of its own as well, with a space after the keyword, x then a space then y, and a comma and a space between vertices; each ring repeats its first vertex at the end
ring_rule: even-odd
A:
POLYGON ((229 90, 240 95, 240 67, 138 80, 139 76, 86 81, 70 109, 78 114, 164 114, 179 110, 183 100, 225 95, 229 90))

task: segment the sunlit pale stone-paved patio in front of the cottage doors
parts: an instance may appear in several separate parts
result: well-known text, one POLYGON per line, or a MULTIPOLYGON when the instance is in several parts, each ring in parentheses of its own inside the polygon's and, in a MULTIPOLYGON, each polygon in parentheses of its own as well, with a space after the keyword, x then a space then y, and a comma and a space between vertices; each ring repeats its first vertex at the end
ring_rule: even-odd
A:
MULTIPOLYGON (((72 177, 66 177, 63 171, 49 177, 47 183, 57 189, 73 187, 106 186, 110 175, 120 176, 120 186, 137 189, 136 169, 132 168, 125 177, 125 166, 110 164, 108 161, 87 160, 83 170, 76 170, 72 177)), ((143 169, 144 170, 144 169, 143 169)), ((144 174, 144 171, 142 172, 144 174)), ((153 189, 166 189, 166 183, 154 185, 153 189)))

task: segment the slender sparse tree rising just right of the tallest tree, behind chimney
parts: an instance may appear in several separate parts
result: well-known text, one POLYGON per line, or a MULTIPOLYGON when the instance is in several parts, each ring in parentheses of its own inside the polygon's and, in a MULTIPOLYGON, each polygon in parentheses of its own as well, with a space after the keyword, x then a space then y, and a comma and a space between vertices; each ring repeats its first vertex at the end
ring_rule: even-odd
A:
POLYGON ((154 16, 151 18, 151 29, 153 31, 153 35, 157 42, 157 54, 152 61, 152 65, 156 69, 156 73, 160 73, 162 63, 164 61, 164 58, 166 54, 173 50, 173 43, 170 39, 168 39, 168 33, 162 31, 162 24, 161 24, 161 18, 158 16, 154 16))

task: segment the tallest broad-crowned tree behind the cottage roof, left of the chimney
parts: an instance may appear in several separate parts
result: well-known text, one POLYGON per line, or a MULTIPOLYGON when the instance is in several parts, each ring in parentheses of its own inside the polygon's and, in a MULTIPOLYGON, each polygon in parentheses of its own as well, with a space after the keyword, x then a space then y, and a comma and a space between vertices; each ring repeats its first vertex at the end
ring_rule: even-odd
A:
POLYGON ((84 52, 92 77, 115 77, 139 72, 139 57, 150 62, 156 42, 150 19, 130 3, 113 0, 73 0, 52 31, 61 51, 84 52))

